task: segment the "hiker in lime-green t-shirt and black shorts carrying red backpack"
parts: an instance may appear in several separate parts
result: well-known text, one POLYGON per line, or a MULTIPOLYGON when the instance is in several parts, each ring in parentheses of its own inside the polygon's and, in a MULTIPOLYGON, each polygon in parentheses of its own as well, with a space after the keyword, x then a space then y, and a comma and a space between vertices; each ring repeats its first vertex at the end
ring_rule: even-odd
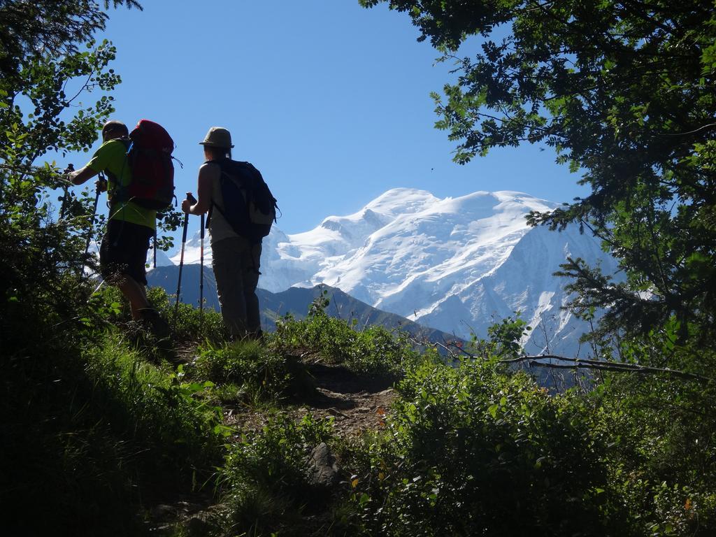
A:
POLYGON ((89 163, 68 179, 82 185, 97 174, 107 175, 108 182, 97 181, 98 193, 107 191, 110 208, 100 246, 102 278, 120 288, 132 319, 162 339, 168 337, 169 326, 147 301, 145 263, 157 209, 170 205, 173 197, 173 141, 153 122, 141 120, 130 134, 124 123, 112 120, 102 127, 102 142, 89 163))

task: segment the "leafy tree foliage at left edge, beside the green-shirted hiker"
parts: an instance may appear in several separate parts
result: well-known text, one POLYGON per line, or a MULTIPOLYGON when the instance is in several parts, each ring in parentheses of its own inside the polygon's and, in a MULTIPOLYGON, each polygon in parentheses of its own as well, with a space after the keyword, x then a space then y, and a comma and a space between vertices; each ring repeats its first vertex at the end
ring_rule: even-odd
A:
MULTIPOLYGON (((140 8, 134 0, 104 4, 140 8)), ((89 190, 68 192, 50 159, 92 147, 114 111, 109 94, 120 77, 109 67, 115 48, 92 39, 107 19, 95 1, 0 1, 0 16, 0 333, 24 349, 58 323, 87 319, 78 311, 87 306, 84 267, 97 262, 87 246, 104 217, 89 190), (92 92, 100 95, 87 105, 92 92)), ((170 211, 163 227, 178 223, 170 211)))

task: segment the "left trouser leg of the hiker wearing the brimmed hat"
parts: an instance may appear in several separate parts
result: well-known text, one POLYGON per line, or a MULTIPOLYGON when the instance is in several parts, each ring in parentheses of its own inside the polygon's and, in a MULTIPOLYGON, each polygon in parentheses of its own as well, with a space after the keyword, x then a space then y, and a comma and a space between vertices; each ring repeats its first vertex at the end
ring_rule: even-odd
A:
POLYGON ((216 279, 221 316, 233 338, 246 335, 246 301, 243 296, 241 243, 238 238, 224 238, 211 244, 211 266, 216 279))

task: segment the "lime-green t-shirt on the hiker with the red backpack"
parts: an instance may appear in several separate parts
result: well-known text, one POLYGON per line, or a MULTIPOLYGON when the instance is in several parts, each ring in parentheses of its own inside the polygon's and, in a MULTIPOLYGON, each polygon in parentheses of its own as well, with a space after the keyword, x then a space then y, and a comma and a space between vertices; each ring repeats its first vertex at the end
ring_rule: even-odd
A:
POLYGON ((132 201, 112 201, 112 193, 116 192, 119 180, 120 184, 126 186, 132 180, 132 171, 127 163, 127 146, 120 140, 110 140, 102 144, 87 167, 96 172, 107 173, 109 185, 107 192, 110 195, 110 219, 123 220, 147 226, 155 229, 157 227, 157 211, 141 207, 132 201))

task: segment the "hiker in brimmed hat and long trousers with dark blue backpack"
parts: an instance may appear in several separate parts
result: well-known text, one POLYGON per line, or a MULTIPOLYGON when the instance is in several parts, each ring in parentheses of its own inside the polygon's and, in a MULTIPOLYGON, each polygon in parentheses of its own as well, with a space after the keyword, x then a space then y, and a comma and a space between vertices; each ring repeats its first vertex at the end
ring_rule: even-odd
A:
POLYGON ((193 215, 208 213, 212 268, 229 338, 258 338, 261 240, 276 220, 276 198, 251 163, 231 160, 228 130, 211 127, 199 143, 205 163, 199 168, 198 199, 188 196, 182 210, 193 215))

